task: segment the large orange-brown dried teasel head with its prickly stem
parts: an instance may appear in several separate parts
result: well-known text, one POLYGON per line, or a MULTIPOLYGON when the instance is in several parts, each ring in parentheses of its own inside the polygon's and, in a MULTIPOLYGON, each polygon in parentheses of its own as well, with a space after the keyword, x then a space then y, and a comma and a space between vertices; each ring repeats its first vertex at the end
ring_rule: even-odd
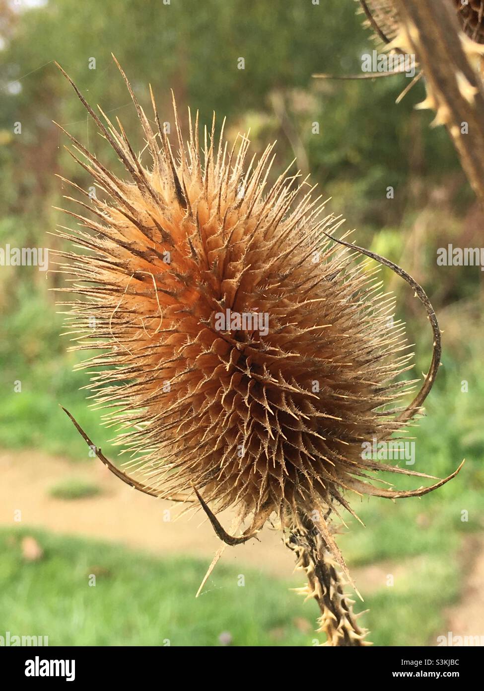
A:
POLYGON ((275 523, 307 575, 302 592, 320 606, 327 645, 365 645, 331 517, 339 520, 342 507, 356 516, 350 493, 420 496, 458 472, 396 491, 372 484, 375 473, 432 476, 362 457, 362 443, 403 430, 432 387, 441 354, 432 306, 403 269, 332 238, 342 219, 325 214, 307 180, 288 169, 267 189, 273 146, 246 164, 249 140, 229 148, 222 125, 215 142, 214 118, 200 154, 198 117, 185 146, 174 104, 175 157, 153 94, 154 131, 122 74, 151 165, 119 120, 115 128, 99 117, 70 82, 131 180, 66 133, 106 200, 79 201, 87 215, 67 211, 79 228, 59 229, 84 248, 60 253, 72 281, 62 290, 77 296, 61 303, 68 331, 74 348, 98 352, 84 363, 94 370, 90 388, 110 409, 106 422, 120 426, 117 443, 130 461, 122 470, 99 448, 97 456, 141 491, 195 501, 225 544, 275 523), (359 254, 369 260, 358 263, 359 254), (409 283, 434 333, 429 372, 407 408, 401 399, 414 383, 398 377, 412 354, 403 324, 389 319, 393 298, 380 292, 372 259, 409 283), (227 507, 240 534, 215 516, 227 507))

